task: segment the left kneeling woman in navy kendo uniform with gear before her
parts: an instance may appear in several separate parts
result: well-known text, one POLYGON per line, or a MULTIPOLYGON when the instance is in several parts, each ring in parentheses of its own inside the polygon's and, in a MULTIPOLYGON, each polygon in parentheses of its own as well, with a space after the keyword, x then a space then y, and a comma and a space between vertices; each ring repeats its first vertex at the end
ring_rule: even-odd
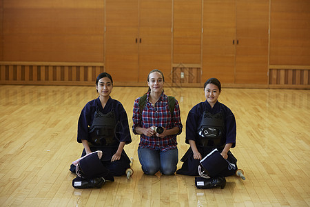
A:
POLYGON ((89 101, 81 111, 77 141, 84 146, 80 159, 73 162, 70 171, 77 177, 74 188, 100 188, 105 180, 125 175, 130 159, 123 150, 130 144, 127 113, 121 102, 112 99, 111 75, 101 73, 96 78, 99 97, 89 101))

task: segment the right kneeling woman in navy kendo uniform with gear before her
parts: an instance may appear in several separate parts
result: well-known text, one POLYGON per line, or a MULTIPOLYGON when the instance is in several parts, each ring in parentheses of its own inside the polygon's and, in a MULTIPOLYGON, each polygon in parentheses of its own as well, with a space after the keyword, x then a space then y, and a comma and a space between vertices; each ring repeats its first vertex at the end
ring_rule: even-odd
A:
POLYGON ((231 110, 218 102, 218 79, 208 79, 204 90, 206 101, 194 106, 187 116, 185 142, 190 148, 176 173, 200 175, 195 178, 197 188, 224 188, 225 177, 237 170, 237 159, 229 151, 236 146, 236 120, 231 110))

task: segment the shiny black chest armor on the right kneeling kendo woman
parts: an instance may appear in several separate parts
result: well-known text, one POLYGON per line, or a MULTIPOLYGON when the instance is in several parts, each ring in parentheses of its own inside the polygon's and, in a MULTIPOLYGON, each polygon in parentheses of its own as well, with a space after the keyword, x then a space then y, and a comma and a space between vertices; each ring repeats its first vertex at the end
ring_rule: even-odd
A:
POLYGON ((224 148, 225 124, 223 120, 222 111, 215 115, 204 111, 198 126, 199 139, 196 141, 196 145, 205 148, 224 148))

